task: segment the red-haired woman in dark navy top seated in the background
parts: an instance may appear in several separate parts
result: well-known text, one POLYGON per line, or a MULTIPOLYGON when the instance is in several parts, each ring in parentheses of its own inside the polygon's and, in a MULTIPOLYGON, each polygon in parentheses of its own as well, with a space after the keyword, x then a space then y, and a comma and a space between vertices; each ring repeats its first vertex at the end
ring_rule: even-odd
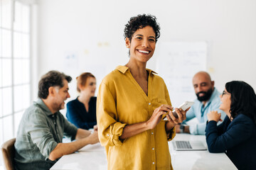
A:
POLYGON ((77 90, 80 96, 67 104, 68 120, 78 128, 88 130, 97 128, 95 89, 96 79, 89 72, 80 74, 77 79, 77 90))

